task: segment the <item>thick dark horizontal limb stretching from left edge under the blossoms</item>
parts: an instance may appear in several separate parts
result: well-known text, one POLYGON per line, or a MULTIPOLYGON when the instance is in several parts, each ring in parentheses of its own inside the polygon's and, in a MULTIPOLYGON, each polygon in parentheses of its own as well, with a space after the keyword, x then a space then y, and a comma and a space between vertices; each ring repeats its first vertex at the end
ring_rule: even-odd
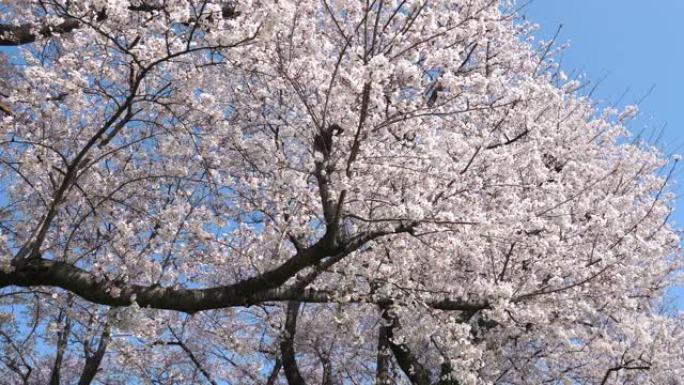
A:
MULTIPOLYGON (((130 306, 135 302, 140 307, 186 313, 295 300, 311 303, 372 303, 379 306, 393 303, 393 299, 385 297, 356 295, 352 298, 339 298, 329 292, 281 286, 290 276, 277 276, 277 281, 275 278, 273 280, 264 278, 274 276, 274 274, 269 274, 272 272, 226 286, 177 289, 97 279, 89 272, 68 263, 40 259, 27 261, 22 266, 15 267, 14 270, 0 268, 0 288, 12 285, 53 286, 101 305, 130 306), (275 283, 278 285, 276 286, 275 283)), ((452 298, 433 298, 426 300, 425 303, 433 309, 448 311, 475 311, 490 307, 484 301, 452 298)))

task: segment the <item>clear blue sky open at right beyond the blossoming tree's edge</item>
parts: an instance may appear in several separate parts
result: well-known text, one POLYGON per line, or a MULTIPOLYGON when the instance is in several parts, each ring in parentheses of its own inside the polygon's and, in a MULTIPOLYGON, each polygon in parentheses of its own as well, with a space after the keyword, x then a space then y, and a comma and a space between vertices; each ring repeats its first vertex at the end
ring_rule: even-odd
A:
MULTIPOLYGON (((620 105, 632 104, 655 85, 630 129, 646 128, 657 136, 665 126, 656 145, 666 153, 684 153, 684 0, 533 0, 522 13, 540 24, 536 35, 542 39, 563 25, 558 41, 570 44, 562 60, 566 73, 577 70, 592 81, 607 75, 595 97, 612 104, 622 96, 620 105)), ((673 219, 681 227, 682 169, 675 179, 674 191, 682 198, 673 219)), ((671 295, 684 310, 684 289, 671 295)))

